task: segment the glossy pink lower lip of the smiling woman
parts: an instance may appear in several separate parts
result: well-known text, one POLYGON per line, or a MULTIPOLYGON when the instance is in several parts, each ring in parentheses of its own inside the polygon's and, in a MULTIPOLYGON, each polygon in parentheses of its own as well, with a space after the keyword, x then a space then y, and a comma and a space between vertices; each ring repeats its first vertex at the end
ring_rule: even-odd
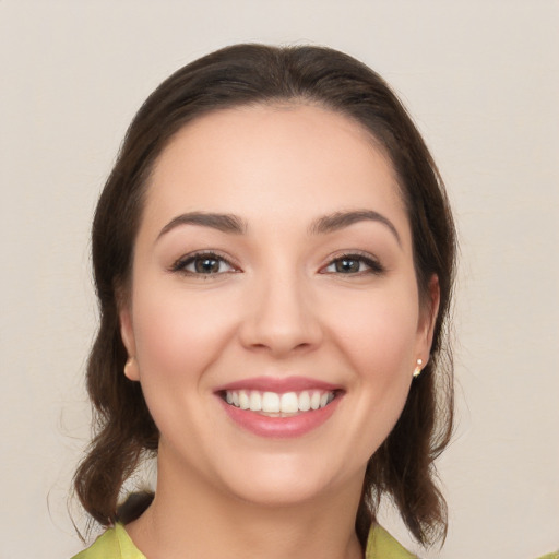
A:
POLYGON ((301 412, 290 417, 269 417, 250 409, 240 409, 239 407, 227 404, 222 397, 225 413, 241 428, 258 435, 272 439, 292 439, 302 437, 304 435, 317 429, 323 425, 335 412, 341 396, 336 396, 330 404, 320 409, 301 412))

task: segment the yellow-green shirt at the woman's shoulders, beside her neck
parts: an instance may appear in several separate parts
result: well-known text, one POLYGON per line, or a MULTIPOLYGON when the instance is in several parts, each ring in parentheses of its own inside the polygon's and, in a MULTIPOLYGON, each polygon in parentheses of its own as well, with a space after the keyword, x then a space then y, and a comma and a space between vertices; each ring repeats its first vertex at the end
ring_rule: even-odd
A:
MULTIPOLYGON (((385 530, 373 526, 369 532, 365 559, 414 559, 385 530)), ((146 559, 138 550, 122 524, 107 530, 95 543, 73 559, 146 559)))

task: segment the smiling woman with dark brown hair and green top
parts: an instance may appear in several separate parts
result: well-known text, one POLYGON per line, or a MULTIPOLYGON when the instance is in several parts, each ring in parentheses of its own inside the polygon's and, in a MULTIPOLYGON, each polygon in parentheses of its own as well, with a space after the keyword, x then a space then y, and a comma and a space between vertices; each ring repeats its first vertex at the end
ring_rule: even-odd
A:
POLYGON ((454 227, 386 84, 317 47, 239 45, 145 102, 93 225, 97 436, 80 558, 411 557, 445 532, 454 227), (157 456, 155 496, 118 507, 157 456), (126 527, 124 527, 126 525, 126 527))

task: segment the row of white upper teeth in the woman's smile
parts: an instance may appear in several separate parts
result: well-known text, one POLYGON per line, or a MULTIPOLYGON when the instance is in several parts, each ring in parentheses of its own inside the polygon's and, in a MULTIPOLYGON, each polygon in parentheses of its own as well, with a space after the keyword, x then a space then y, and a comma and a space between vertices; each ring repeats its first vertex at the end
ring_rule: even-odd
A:
POLYGON ((259 392, 258 390, 227 390, 225 401, 227 404, 263 412, 264 414, 296 414, 325 407, 334 400, 334 392, 320 390, 304 390, 302 392, 259 392))

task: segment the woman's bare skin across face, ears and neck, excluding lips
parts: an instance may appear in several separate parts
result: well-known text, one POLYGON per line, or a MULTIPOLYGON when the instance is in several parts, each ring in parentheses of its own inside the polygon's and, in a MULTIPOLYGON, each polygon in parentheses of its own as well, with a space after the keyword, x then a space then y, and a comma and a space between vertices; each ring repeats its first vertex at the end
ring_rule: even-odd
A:
POLYGON ((160 430, 154 503, 127 526, 138 547, 150 559, 362 557, 365 467, 428 360, 438 305, 436 278, 420 304, 399 186, 367 131, 306 105, 190 123, 154 169, 131 285, 126 374, 160 430), (349 211, 382 217, 310 230, 349 211), (245 230, 176 222, 191 212, 234 214, 245 230), (197 251, 224 260, 195 273, 197 251), (358 254, 349 271, 345 254, 358 254), (300 437, 249 432, 215 394, 289 376, 341 388, 300 437))

